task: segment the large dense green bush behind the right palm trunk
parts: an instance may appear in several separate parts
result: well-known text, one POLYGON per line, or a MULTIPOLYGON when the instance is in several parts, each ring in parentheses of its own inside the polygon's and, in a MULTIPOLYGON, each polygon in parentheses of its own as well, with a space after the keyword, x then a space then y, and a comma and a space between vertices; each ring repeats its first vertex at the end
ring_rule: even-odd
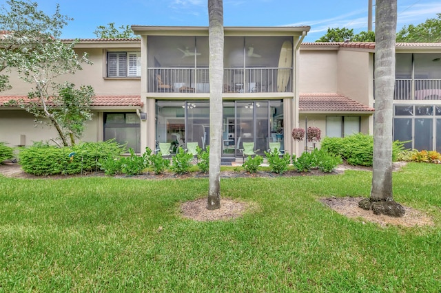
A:
MULTIPOLYGON (((404 149, 404 143, 395 141, 392 144, 392 160, 404 149)), ((324 138, 321 148, 328 153, 340 155, 351 165, 372 166, 373 163, 373 136, 365 133, 356 133, 345 138, 324 138)))

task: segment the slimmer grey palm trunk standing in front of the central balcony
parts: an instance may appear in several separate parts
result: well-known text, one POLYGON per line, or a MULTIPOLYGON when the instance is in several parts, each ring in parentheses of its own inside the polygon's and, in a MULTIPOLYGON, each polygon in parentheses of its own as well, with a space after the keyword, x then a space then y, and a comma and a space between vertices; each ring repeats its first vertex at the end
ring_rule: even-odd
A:
POLYGON ((209 18, 209 190, 207 209, 220 208, 222 140, 223 2, 208 0, 209 18))

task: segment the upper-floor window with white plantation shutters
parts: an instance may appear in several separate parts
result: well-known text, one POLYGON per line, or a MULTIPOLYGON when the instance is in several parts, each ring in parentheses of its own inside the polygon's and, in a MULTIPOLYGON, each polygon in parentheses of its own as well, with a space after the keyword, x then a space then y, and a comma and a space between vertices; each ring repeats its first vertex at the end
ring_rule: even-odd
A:
POLYGON ((141 52, 107 52, 107 77, 141 76, 141 52))

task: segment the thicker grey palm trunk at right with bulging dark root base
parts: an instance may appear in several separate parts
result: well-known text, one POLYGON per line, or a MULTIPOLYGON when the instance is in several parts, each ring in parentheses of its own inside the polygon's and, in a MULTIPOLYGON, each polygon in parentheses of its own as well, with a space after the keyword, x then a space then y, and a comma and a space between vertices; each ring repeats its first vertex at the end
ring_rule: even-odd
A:
POLYGON ((402 217, 404 208, 392 196, 392 107, 395 87, 397 0, 376 1, 375 121, 373 173, 369 199, 358 205, 376 215, 402 217))

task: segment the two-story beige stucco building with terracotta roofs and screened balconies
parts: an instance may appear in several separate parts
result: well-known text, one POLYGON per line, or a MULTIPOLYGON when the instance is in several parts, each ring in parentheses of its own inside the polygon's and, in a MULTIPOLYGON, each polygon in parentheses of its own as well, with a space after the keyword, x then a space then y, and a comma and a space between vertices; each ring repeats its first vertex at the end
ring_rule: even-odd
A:
MULTIPOLYGON (((141 39, 82 39, 76 45, 94 62, 63 77, 95 89, 94 118, 83 140, 116 138, 138 153, 159 142, 205 147, 208 28, 132 30, 141 39)), ((375 44, 302 43, 308 31, 225 27, 223 160, 241 156, 243 142, 254 142, 260 153, 280 142, 300 154, 306 143, 292 140, 294 127, 319 127, 322 137, 372 132, 375 44)), ((394 138, 441 151, 441 43, 397 44, 396 57, 394 138)), ((30 89, 14 74, 11 83, 0 96, 0 141, 18 146, 55 138, 54 129, 34 127, 30 114, 4 105, 30 89)))

